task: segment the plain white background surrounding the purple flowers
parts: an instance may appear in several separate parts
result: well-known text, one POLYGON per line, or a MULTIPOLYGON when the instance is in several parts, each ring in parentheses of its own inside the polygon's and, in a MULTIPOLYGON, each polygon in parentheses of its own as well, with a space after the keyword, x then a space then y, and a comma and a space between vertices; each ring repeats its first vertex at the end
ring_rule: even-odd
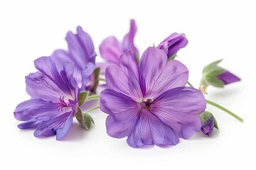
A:
POLYGON ((252 1, 1 1, 0 74, 1 122, 0 167, 82 169, 216 169, 255 165, 255 4, 252 1), (190 70, 191 83, 198 86, 203 67, 224 58, 221 66, 242 78, 225 89, 210 87, 209 100, 245 119, 240 123, 212 106, 220 130, 212 137, 201 133, 181 140, 175 147, 133 149, 126 139, 106 133, 107 115, 95 111, 95 125, 82 130, 75 123, 63 142, 55 137, 38 139, 33 130, 19 130, 13 112, 29 98, 24 77, 35 72, 33 60, 67 48, 65 34, 80 25, 90 33, 95 49, 103 38, 119 40, 129 30, 129 19, 137 21, 135 43, 142 52, 153 42, 174 32, 186 33, 188 46, 178 52, 190 70))

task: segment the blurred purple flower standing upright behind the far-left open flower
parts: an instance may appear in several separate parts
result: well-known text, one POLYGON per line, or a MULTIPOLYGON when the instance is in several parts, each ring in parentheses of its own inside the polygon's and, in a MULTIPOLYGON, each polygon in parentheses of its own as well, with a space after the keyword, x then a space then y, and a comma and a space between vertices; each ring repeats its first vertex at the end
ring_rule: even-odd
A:
POLYGON ((77 30, 77 34, 68 32, 66 36, 69 50, 55 50, 52 58, 58 68, 63 67, 63 62, 74 62, 74 77, 78 85, 83 91, 90 91, 95 85, 95 79, 92 76, 95 71, 95 47, 90 35, 85 33, 80 26, 77 30))

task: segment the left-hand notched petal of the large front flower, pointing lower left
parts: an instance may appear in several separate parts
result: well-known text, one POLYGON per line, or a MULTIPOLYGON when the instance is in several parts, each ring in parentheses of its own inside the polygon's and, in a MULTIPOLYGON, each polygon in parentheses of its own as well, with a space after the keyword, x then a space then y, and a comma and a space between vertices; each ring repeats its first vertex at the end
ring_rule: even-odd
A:
POLYGON ((131 134, 140 107, 128 96, 106 89, 100 94, 100 109, 110 114, 106 120, 107 134, 122 138, 131 134))

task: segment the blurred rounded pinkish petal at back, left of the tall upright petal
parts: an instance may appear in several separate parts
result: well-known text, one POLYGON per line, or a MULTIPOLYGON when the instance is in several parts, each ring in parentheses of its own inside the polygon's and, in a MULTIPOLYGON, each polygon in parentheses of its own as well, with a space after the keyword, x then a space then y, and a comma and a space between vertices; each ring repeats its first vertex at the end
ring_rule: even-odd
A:
POLYGON ((106 38, 100 45, 100 55, 107 62, 118 64, 119 57, 123 52, 121 43, 114 37, 106 38))

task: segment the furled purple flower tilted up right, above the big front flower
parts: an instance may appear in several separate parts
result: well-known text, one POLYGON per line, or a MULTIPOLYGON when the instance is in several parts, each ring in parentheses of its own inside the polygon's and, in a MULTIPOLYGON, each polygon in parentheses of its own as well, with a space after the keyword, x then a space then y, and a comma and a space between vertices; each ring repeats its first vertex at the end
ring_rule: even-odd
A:
MULTIPOLYGON (((164 50, 166 55, 170 58, 176 55, 176 52, 183 47, 186 47, 188 40, 185 34, 173 33, 168 38, 163 40, 159 46, 159 49, 164 50)), ((175 57, 175 56, 174 56, 175 57)))

